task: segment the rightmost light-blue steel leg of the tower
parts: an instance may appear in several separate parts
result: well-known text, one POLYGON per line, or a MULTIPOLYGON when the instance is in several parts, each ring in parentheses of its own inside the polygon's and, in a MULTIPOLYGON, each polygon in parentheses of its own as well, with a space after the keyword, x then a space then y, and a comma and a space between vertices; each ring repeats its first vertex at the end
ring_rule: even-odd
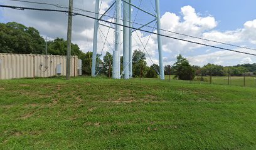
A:
POLYGON ((164 80, 164 64, 163 64, 163 47, 162 47, 162 39, 161 39, 161 22, 160 22, 160 6, 159 0, 155 0, 156 2, 156 20, 157 20, 157 40, 158 40, 158 54, 159 54, 159 67, 160 67, 160 77, 161 80, 164 80))

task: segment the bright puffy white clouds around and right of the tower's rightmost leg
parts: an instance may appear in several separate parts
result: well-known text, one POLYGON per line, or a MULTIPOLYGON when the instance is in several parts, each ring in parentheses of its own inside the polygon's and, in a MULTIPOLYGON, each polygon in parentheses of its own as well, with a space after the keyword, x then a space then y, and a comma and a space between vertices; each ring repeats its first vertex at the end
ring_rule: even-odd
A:
MULTIPOLYGON (((196 13, 195 9, 191 6, 184 6, 183 8, 181 8, 181 16, 178 16, 171 12, 165 12, 164 15, 161 17, 161 26, 163 29, 169 31, 188 34, 189 36, 206 38, 213 41, 227 42, 229 44, 237 45, 243 44, 242 46, 248 46, 251 43, 256 44, 256 20, 245 22, 243 29, 220 32, 215 30, 215 28, 218 26, 215 17, 202 17, 201 14, 196 13)), ((211 44, 213 46, 221 46, 228 49, 234 49, 234 47, 225 46, 216 42, 203 41, 201 39, 181 36, 171 32, 162 31, 162 34, 166 34, 172 37, 178 37, 181 39, 187 39, 190 41, 211 44)), ((168 56, 175 56, 176 54, 181 53, 184 54, 184 56, 190 56, 189 61, 191 61, 192 64, 200 66, 207 63, 234 65, 238 63, 253 63, 253 61, 255 61, 254 58, 245 58, 248 57, 248 55, 246 54, 237 54, 231 51, 216 52, 217 49, 214 48, 208 48, 203 50, 205 46, 200 46, 198 44, 192 44, 185 41, 178 41, 175 39, 170 39, 168 37, 162 38, 163 51, 166 53, 164 56, 165 60, 168 59, 168 56)), ((152 45, 152 47, 149 47, 151 51, 151 56, 154 59, 157 59, 157 36, 152 35, 151 39, 155 41, 154 45, 152 45)), ((237 49, 237 51, 255 54, 255 51, 251 51, 248 49, 237 49)), ((169 57, 169 61, 164 61, 164 64, 172 63, 173 61, 175 61, 175 59, 176 58, 174 57, 169 57)))

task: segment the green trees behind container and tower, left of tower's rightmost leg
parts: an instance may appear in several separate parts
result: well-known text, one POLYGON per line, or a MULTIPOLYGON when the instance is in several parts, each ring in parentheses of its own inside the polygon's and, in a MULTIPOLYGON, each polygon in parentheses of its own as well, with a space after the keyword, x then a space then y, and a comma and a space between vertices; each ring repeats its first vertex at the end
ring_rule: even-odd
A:
MULTIPOLYGON (((8 22, 6 24, 0 23, 0 53, 13 53, 13 54, 45 54, 45 39, 40 35, 40 32, 34 27, 26 27, 18 22, 8 22)), ((53 41, 47 42, 47 54, 52 55, 67 55, 67 41, 62 38, 56 38, 53 41)), ((71 46, 72 56, 78 56, 82 59, 82 74, 91 75, 92 68, 92 52, 88 51, 83 53, 77 44, 71 46)), ((97 73, 103 76, 112 76, 113 57, 112 54, 107 52, 103 59, 102 56, 97 54, 97 73), (103 65, 102 66, 100 65, 103 65)), ((122 66, 122 57, 120 58, 121 71, 127 66, 122 66)), ((156 71, 153 68, 159 70, 159 66, 149 67, 146 63, 146 55, 141 51, 134 51, 133 64, 133 76, 134 77, 146 77, 157 78, 156 71)))

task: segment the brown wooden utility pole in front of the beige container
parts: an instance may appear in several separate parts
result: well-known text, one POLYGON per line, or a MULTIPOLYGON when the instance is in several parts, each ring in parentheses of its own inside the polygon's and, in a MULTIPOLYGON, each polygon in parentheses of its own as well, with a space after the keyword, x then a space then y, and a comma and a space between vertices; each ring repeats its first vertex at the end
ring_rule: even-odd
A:
POLYGON ((72 39, 72 16, 73 16, 73 0, 69 0, 68 8, 68 47, 67 47, 67 68, 66 68, 66 79, 70 80, 71 72, 71 39, 72 39))

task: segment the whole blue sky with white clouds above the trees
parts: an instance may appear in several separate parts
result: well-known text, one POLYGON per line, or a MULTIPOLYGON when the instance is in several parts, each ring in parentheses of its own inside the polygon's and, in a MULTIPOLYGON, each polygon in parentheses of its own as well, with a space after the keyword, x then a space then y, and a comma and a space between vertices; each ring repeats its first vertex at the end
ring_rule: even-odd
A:
MULTIPOLYGON (((42 2, 39 0, 28 0, 42 2)), ((104 13, 114 0, 103 0, 100 13, 104 13)), ((68 0, 45 0, 43 2, 58 4, 60 6, 68 6, 68 0)), ((26 2, 17 2, 10 0, 1 0, 0 4, 13 6, 26 6, 34 8, 63 9, 55 6, 31 4, 26 2)), ((154 0, 133 1, 133 4, 139 8, 155 14, 154 0)), ((227 42, 237 46, 245 46, 256 48, 256 1, 255 0, 160 0, 161 10, 161 28, 168 31, 188 34, 210 40, 227 42)), ((95 1, 74 0, 74 8, 95 11, 95 1)), ((77 11, 77 10, 75 10, 77 11)), ((146 24, 154 20, 154 17, 132 9, 134 22, 146 24), (136 17, 137 16, 137 17, 136 17)), ((80 12, 89 16, 93 13, 80 12)), ((114 16, 112 9, 109 16, 114 16)), ((104 17, 108 21, 112 21, 110 17, 104 17)), ((42 36, 48 36, 50 39, 62 37, 67 39, 67 14, 60 12, 38 12, 38 11, 18 11, 15 9, 0 8, 0 22, 15 21, 25 26, 32 26, 40 31, 42 36)), ((93 45, 93 23, 92 19, 82 16, 73 17, 72 42, 78 44, 83 52, 92 51, 93 45)), ((105 22, 101 22, 107 26, 105 22)), ((113 25, 112 25, 113 26, 113 25)), ((155 26, 155 22, 149 24, 155 26)), ((134 24, 134 27, 139 27, 134 24)), ((145 27, 148 31, 156 32, 150 27, 145 27)), ((114 30, 108 27, 100 26, 98 37, 97 53, 105 54, 106 51, 112 53, 114 48, 114 30), (108 36, 107 36, 108 35, 108 36), (107 44, 104 46, 104 37, 107 36, 107 44), (102 39, 103 40, 102 40, 102 39)), ((214 42, 202 41, 191 37, 181 36, 170 32, 162 32, 162 34, 186 39, 189 41, 202 42, 213 46, 233 49, 235 51, 243 51, 256 54, 256 51, 242 49, 232 46, 225 46, 214 42)), ((223 66, 232 66, 243 63, 256 63, 256 56, 247 54, 239 54, 231 51, 215 49, 206 46, 199 46, 188 42, 177 41, 162 37, 163 40, 163 58, 164 65, 173 64, 176 56, 182 54, 188 58, 193 65, 203 66, 207 63, 220 64, 223 66)), ((158 63, 157 36, 146 32, 136 31, 132 34, 132 49, 143 50, 146 46, 147 65, 158 63), (143 43, 140 42, 140 39, 143 43), (147 43, 148 41, 148 43, 147 43), (146 45, 147 43, 147 45, 146 45), (152 62, 151 62, 151 58, 152 62)), ((122 54, 122 53, 121 53, 122 54)))

